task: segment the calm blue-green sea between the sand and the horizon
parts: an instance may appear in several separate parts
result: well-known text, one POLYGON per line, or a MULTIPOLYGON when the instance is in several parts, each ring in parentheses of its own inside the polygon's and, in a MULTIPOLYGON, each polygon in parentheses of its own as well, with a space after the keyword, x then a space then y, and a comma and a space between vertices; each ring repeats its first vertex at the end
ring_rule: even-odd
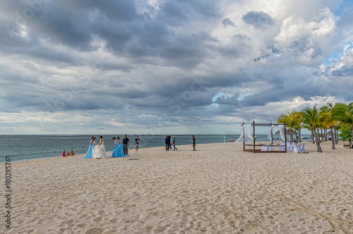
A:
MULTIPOLYGON (((177 145, 191 144, 191 135, 175 135, 177 145)), ((11 156, 11 161, 28 161, 62 156, 66 152, 86 154, 92 135, 0 135, 0 163, 4 164, 5 157, 11 156)), ((99 136, 97 142, 99 142, 99 136)), ((114 148, 112 137, 116 135, 103 135, 107 152, 114 148)), ((120 136, 123 137, 123 136, 120 136)), ((196 144, 221 143, 223 135, 195 135, 196 144)), ((239 135, 226 135, 225 142, 237 140, 239 135)), ((130 148, 133 149, 136 135, 128 135, 130 148)), ((139 135, 140 148, 164 147, 165 135, 139 135)), ((267 135, 256 135, 258 141, 268 141, 267 135)))

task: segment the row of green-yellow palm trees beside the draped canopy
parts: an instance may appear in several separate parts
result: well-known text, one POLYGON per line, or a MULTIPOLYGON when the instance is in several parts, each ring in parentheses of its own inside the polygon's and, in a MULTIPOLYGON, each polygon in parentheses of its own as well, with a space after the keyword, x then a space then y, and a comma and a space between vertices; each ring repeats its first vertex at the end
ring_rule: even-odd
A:
POLYGON ((290 141, 293 142, 293 133, 298 141, 301 141, 301 128, 306 128, 311 131, 313 144, 316 142, 318 152, 323 152, 320 143, 328 140, 330 135, 332 140, 332 149, 335 149, 335 144, 338 143, 338 131, 345 130, 348 133, 349 147, 352 148, 352 133, 353 133, 353 102, 345 103, 328 103, 318 109, 306 108, 303 111, 292 111, 288 114, 282 113, 277 119, 277 123, 286 123, 287 132, 290 135, 290 141), (328 133, 328 130, 330 132, 328 133))

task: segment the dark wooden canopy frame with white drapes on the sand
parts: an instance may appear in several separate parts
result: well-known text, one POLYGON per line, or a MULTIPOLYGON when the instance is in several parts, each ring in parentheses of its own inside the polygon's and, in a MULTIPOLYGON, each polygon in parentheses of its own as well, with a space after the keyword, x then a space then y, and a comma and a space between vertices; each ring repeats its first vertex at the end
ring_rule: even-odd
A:
MULTIPOLYGON (((263 144, 256 144, 256 137, 255 137, 255 127, 271 127, 271 126, 278 126, 278 125, 284 125, 284 129, 286 129, 286 123, 251 123, 251 126, 253 126, 253 144, 245 144, 245 135, 243 134, 243 144, 244 144, 244 149, 243 151, 245 152, 253 152, 253 153, 287 153, 287 133, 285 130, 285 145, 272 145, 272 147, 285 147, 285 151, 280 151, 278 150, 273 150, 273 151, 262 151, 261 149, 256 149, 256 147, 263 147, 263 144), (252 149, 246 149, 246 146, 251 146, 252 149)), ((243 125, 244 126, 244 123, 243 125)), ((271 140, 272 143, 272 140, 271 140)))

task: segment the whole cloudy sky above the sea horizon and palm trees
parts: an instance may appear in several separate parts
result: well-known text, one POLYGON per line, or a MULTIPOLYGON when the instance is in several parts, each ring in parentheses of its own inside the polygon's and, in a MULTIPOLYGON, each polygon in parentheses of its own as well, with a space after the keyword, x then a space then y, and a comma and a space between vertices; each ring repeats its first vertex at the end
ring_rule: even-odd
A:
POLYGON ((353 1, 2 0, 0 134, 223 134, 353 101, 353 1))

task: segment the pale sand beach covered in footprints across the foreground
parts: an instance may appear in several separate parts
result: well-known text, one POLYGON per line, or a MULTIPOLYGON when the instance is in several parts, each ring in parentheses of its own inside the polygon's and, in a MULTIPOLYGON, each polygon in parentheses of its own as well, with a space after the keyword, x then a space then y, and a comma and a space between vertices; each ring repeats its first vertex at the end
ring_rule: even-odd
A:
POLYGON ((192 152, 190 144, 12 163, 12 228, 0 230, 353 233, 353 149, 342 144, 324 142, 318 153, 306 142, 309 154, 253 154, 234 143, 192 152))

